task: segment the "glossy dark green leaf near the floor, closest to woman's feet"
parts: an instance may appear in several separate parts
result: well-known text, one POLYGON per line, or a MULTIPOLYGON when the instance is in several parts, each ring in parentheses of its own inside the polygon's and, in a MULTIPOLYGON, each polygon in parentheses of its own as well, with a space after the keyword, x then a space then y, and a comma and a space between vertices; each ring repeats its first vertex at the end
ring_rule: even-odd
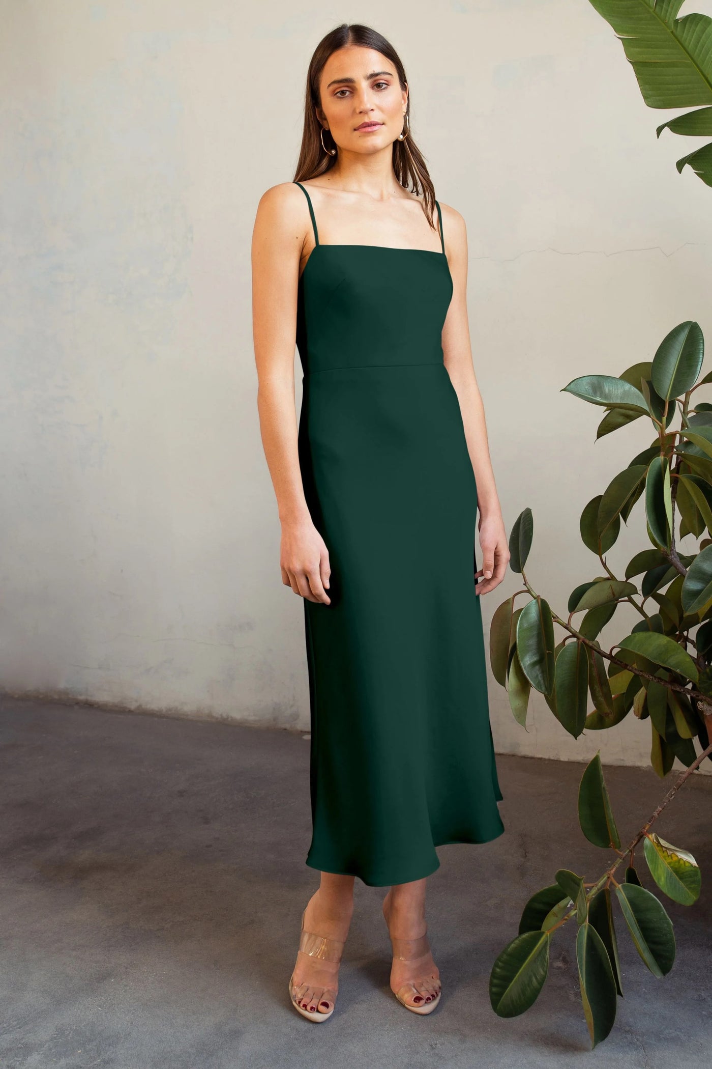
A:
POLYGON ((517 1017, 534 1005, 549 971, 550 936, 529 931, 500 954, 490 974, 490 1003, 499 1017, 517 1017))

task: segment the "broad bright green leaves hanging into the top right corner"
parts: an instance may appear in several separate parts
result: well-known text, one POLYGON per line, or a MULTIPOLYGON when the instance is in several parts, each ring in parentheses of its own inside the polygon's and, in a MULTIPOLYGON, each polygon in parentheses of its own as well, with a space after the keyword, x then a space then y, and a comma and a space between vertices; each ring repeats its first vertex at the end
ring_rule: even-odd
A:
MULTIPOLYGON (((712 19, 692 12, 678 18, 682 0, 589 0, 615 30, 649 108, 695 108, 662 123, 683 137, 712 136, 712 19), (699 107, 699 105, 707 105, 699 107)), ((712 186, 712 142, 678 159, 712 186)))

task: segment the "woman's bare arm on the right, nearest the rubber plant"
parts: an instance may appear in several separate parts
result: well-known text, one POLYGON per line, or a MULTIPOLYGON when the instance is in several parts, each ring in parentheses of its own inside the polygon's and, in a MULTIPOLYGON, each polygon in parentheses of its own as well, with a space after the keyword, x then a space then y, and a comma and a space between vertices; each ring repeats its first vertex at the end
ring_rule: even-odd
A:
POLYGON ((468 322, 468 235, 459 212, 441 203, 443 234, 450 275, 453 299, 443 327, 445 367, 460 402, 468 450, 477 483, 479 543, 482 567, 477 575, 477 593, 487 593, 502 579, 509 561, 509 546, 487 440, 485 406, 475 377, 468 322))

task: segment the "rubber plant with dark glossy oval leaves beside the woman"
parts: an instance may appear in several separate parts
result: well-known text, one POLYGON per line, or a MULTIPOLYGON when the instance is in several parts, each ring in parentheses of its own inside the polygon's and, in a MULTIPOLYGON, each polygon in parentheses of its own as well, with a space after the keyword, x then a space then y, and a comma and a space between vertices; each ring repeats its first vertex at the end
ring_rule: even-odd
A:
POLYGON ((581 537, 602 574, 571 592, 567 615, 556 614, 526 577, 534 525, 532 510, 524 509, 509 539, 509 566, 521 574, 523 589, 499 606, 490 629, 492 670, 520 724, 526 725, 532 690, 543 695, 574 739, 583 731, 611 730, 632 714, 650 733, 650 760, 661 778, 676 757, 686 766, 623 848, 600 752, 596 755, 581 779, 579 821, 590 842, 614 851, 613 861, 591 882, 568 869, 555 872, 554 882, 524 907, 518 935, 492 967, 492 1008, 501 1017, 522 1013, 547 978, 554 933, 575 918, 581 997, 594 1047, 611 1032, 622 994, 614 903, 654 976, 664 976, 675 961, 673 924, 660 898, 642 885, 636 849, 642 845, 649 874, 665 896, 692 905, 700 892, 695 858, 652 825, 690 775, 712 758, 712 405, 697 401, 712 373, 700 378, 703 348, 699 325, 680 323, 652 361, 635 363, 618 378, 583 375, 564 387, 605 409, 597 438, 634 420, 650 421, 654 437, 583 510, 581 537), (680 425, 674 428, 678 416, 680 425), (650 546, 619 576, 605 555, 638 500, 650 546), (698 543, 695 553, 678 547, 677 540, 687 534, 698 543), (521 594, 529 599, 517 606, 521 594), (598 636, 623 604, 639 619, 603 649, 598 636), (555 628, 564 632, 558 642, 555 628))

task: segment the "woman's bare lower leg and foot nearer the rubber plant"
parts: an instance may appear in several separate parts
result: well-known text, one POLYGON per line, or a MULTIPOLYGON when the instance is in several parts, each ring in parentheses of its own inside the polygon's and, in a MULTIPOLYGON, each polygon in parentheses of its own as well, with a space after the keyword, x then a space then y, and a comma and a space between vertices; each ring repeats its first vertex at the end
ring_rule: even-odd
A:
MULTIPOLYGON (((426 930, 425 892, 427 877, 411 883, 397 883, 383 899, 383 916, 394 939, 418 939, 426 930)), ((404 983, 415 983, 416 991, 406 996, 412 1006, 432 1002, 440 990, 440 972, 430 950, 414 961, 393 959, 391 990, 397 992, 404 983), (424 979, 434 977, 434 979, 424 979)))

